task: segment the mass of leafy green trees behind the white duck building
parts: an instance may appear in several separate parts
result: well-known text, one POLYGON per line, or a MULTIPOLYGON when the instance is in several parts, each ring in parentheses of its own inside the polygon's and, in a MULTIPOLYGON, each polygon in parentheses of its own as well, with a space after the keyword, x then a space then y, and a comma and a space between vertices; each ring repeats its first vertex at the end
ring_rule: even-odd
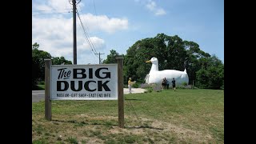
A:
MULTIPOLYGON (((104 63, 115 63, 115 50, 104 63)), ((198 43, 182 40, 178 35, 157 34, 154 38, 138 40, 126 50, 124 55, 124 83, 128 78, 145 82, 151 65, 145 63, 150 58, 158 58, 159 70, 184 70, 190 82, 200 88, 219 89, 224 87, 224 64, 215 56, 200 50, 198 43)))

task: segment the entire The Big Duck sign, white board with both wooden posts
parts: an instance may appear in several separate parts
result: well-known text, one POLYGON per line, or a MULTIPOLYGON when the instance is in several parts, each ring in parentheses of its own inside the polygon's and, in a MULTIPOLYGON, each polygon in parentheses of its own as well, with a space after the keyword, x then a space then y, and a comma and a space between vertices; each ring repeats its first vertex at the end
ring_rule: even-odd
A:
POLYGON ((51 65, 45 59, 45 118, 52 100, 118 100, 118 126, 124 128, 123 58, 102 65, 51 65))

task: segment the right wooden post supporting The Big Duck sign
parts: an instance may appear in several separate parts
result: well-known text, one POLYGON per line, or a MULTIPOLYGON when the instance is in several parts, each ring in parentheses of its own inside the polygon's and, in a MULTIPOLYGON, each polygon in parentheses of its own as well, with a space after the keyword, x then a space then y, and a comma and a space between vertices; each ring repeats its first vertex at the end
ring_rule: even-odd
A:
POLYGON ((118 62, 118 126, 124 128, 124 98, 123 98, 123 75, 122 75, 122 56, 116 57, 118 62))

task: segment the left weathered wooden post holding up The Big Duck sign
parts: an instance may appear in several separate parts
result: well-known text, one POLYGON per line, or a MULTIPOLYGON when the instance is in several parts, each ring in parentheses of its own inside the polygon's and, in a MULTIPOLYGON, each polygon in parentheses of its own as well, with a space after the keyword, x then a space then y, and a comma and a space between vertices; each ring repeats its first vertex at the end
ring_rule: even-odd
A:
POLYGON ((51 120, 50 67, 51 60, 45 59, 45 118, 48 121, 51 120))

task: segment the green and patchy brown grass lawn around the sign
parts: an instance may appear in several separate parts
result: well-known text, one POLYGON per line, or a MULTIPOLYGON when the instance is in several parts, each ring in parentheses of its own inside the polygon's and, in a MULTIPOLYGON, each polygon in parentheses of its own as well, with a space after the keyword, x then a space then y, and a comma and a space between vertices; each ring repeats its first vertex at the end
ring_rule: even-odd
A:
POLYGON ((33 143, 224 143, 223 90, 125 94, 125 129, 118 101, 32 103, 33 143))

